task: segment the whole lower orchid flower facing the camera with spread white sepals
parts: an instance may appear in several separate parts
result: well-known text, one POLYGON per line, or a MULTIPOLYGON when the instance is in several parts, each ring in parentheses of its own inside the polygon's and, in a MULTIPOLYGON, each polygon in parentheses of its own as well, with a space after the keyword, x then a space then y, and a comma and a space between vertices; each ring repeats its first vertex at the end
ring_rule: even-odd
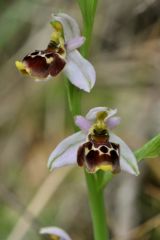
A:
POLYGON ((120 118, 114 116, 116 113, 117 109, 96 107, 85 117, 76 116, 75 124, 80 131, 65 138, 53 150, 48 159, 49 169, 78 164, 89 173, 101 169, 112 173, 124 170, 138 175, 134 153, 111 131, 120 123, 120 118))

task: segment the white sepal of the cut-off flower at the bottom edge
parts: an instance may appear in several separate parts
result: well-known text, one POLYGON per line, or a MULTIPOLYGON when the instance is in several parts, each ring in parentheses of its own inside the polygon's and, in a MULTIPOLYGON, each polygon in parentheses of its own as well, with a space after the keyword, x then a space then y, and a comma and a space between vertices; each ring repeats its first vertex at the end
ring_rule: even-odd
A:
POLYGON ((56 237, 60 237, 62 240, 71 240, 69 235, 58 227, 44 227, 40 229, 40 234, 51 234, 56 237))

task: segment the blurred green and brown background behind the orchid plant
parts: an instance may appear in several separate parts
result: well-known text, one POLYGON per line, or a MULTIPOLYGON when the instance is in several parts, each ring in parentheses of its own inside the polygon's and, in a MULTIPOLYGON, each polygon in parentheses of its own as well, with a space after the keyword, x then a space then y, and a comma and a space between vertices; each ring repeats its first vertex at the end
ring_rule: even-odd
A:
MULTIPOLYGON (((118 108, 115 132, 132 149, 160 131, 160 1, 99 1, 90 59, 96 86, 83 94, 85 114, 118 108)), ((42 226, 64 228, 73 240, 93 240, 83 170, 49 173, 47 158, 68 127, 63 79, 36 83, 15 61, 49 41, 52 12, 82 27, 73 0, 0 1, 0 240, 38 240, 42 226)), ((140 164, 141 175, 117 175, 105 192, 113 240, 160 239, 160 161, 140 164)))

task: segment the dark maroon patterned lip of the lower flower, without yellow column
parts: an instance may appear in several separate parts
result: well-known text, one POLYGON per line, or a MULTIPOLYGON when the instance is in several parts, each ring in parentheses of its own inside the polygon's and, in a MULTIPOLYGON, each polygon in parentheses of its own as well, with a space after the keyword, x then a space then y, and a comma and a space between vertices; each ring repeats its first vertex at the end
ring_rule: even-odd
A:
POLYGON ((98 139, 98 141, 94 140, 92 136, 95 135, 89 134, 88 141, 78 149, 78 165, 84 166, 89 173, 95 173, 98 170, 118 173, 120 171, 119 145, 106 141, 104 135, 101 136, 103 138, 101 143, 98 139))

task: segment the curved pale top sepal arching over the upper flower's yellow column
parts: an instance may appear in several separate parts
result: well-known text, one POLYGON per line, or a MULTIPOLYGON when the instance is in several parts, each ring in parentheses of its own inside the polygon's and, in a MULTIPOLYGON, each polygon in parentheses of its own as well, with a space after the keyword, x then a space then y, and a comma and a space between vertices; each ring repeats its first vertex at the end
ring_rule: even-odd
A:
POLYGON ((65 13, 52 14, 52 22, 58 21, 63 25, 65 41, 80 36, 80 29, 76 20, 65 13))

